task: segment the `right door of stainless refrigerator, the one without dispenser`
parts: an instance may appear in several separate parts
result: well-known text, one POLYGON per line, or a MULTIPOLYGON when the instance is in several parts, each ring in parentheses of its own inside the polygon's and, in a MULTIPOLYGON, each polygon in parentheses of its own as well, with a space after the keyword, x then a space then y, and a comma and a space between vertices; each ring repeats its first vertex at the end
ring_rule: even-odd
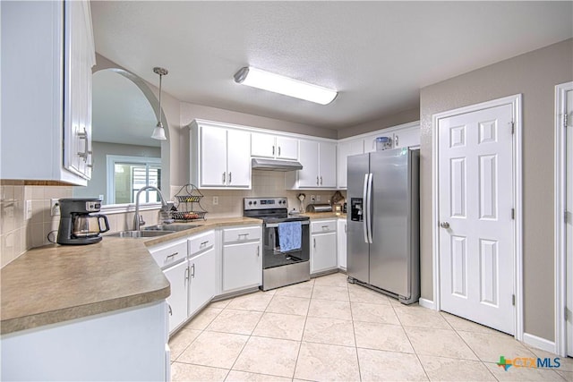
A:
MULTIPOLYGON (((372 244, 370 284, 409 297, 410 241, 408 214, 409 155, 407 150, 376 151, 371 155, 372 244)), ((350 186, 350 178, 348 185, 350 186)))

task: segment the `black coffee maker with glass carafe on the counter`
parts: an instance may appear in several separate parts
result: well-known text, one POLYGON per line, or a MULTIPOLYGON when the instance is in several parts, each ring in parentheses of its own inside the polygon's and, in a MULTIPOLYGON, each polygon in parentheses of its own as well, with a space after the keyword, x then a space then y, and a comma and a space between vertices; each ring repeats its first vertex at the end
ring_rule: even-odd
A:
POLYGON ((83 245, 101 241, 99 233, 109 231, 105 215, 91 215, 101 209, 100 199, 65 198, 58 200, 60 227, 57 230, 58 244, 83 245), (103 223, 103 225, 102 225, 103 223))

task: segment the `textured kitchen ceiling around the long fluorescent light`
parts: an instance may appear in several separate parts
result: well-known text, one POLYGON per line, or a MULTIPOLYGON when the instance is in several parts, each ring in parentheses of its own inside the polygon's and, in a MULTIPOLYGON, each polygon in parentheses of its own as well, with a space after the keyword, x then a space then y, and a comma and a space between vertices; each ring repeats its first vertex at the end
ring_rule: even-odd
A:
POLYGON ((175 98, 339 129, 419 89, 573 37, 571 2, 92 1, 96 50, 175 98), (328 106, 235 84, 245 65, 338 89, 328 106))

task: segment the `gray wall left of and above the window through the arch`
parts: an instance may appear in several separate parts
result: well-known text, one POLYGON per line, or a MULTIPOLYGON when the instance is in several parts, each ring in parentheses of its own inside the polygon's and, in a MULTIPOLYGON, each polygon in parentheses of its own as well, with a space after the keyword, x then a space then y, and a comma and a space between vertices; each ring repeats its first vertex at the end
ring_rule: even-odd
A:
MULTIPOLYGON (((161 157, 161 149, 150 146, 121 145, 108 142, 91 142, 94 163, 91 180, 86 187, 73 187, 74 198, 98 198, 106 195, 107 188, 107 159, 109 155, 129 157, 161 157)), ((104 199, 104 204, 107 200, 104 199)))

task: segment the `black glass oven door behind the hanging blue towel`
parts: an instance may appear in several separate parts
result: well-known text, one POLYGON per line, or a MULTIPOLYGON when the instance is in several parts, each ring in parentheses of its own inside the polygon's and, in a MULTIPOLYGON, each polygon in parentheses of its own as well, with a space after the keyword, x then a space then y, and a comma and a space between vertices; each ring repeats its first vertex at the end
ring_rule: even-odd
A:
POLYGON ((301 222, 301 225, 301 248, 298 250, 289 250, 287 252, 280 251, 280 244, 278 241, 278 223, 264 225, 264 238, 262 242, 264 249, 262 257, 263 269, 286 266, 289 264, 308 261, 310 259, 310 222, 305 220, 301 222))

